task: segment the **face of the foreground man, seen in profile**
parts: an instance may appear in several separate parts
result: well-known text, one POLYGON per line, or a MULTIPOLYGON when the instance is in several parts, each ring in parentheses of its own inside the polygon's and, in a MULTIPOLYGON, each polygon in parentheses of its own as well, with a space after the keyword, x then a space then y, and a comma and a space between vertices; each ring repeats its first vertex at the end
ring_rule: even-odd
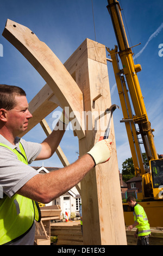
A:
POLYGON ((26 131, 28 121, 32 118, 28 110, 28 102, 26 96, 15 96, 16 106, 7 111, 7 127, 13 135, 17 136, 20 132, 26 131))

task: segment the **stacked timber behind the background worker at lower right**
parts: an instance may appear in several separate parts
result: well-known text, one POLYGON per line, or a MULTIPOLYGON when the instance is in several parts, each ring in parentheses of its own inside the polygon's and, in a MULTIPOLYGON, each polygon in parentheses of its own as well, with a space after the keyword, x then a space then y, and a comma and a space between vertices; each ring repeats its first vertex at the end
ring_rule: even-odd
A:
MULTIPOLYGON (((126 230, 127 245, 136 245, 137 239, 134 237, 135 231, 136 228, 131 231, 126 230)), ((151 228, 149 245, 163 245, 163 228, 151 228)))

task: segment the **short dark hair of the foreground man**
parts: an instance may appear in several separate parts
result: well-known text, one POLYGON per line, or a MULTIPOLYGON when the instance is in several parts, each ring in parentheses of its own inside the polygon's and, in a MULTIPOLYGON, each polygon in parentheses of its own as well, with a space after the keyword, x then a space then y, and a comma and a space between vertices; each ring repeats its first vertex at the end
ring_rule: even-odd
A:
POLYGON ((26 96, 24 90, 18 86, 0 84, 0 108, 11 110, 15 107, 15 96, 26 96))

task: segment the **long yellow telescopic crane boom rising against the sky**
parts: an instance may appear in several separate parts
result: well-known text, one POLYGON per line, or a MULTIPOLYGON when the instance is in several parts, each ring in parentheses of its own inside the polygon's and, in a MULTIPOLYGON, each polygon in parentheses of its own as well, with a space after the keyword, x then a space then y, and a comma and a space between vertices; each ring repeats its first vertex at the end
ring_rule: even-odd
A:
POLYGON ((123 25, 120 4, 117 0, 108 0, 107 8, 114 26, 118 47, 115 46, 114 50, 110 50, 109 48, 106 49, 112 58, 112 65, 123 111, 123 121, 126 125, 134 162, 135 175, 143 175, 146 173, 146 170, 142 159, 139 135, 141 135, 148 161, 158 159, 158 154, 156 153, 153 139, 152 132, 154 130, 151 129, 151 123, 148 120, 145 103, 137 77, 137 72, 141 71, 141 65, 134 64, 133 52, 129 47, 126 31, 123 25), (120 56, 121 59, 122 69, 120 69, 120 65, 118 63, 118 56, 120 56), (133 107, 130 105, 128 91, 133 107), (135 111, 135 115, 133 114, 133 110, 135 111), (138 126, 138 128, 136 128, 136 126, 138 126))

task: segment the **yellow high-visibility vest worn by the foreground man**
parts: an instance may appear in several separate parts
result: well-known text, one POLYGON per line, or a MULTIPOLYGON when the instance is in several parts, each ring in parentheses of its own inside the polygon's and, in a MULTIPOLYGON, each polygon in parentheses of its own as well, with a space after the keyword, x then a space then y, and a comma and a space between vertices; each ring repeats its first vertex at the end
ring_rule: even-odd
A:
MULTIPOLYGON (((18 160, 28 164, 21 143, 19 143, 21 152, 2 143, 0 146, 10 149, 17 155, 18 160)), ((21 239, 32 228, 35 220, 41 221, 41 211, 37 202, 20 194, 14 194, 11 198, 4 196, 0 199, 0 245, 9 245, 21 239)))

